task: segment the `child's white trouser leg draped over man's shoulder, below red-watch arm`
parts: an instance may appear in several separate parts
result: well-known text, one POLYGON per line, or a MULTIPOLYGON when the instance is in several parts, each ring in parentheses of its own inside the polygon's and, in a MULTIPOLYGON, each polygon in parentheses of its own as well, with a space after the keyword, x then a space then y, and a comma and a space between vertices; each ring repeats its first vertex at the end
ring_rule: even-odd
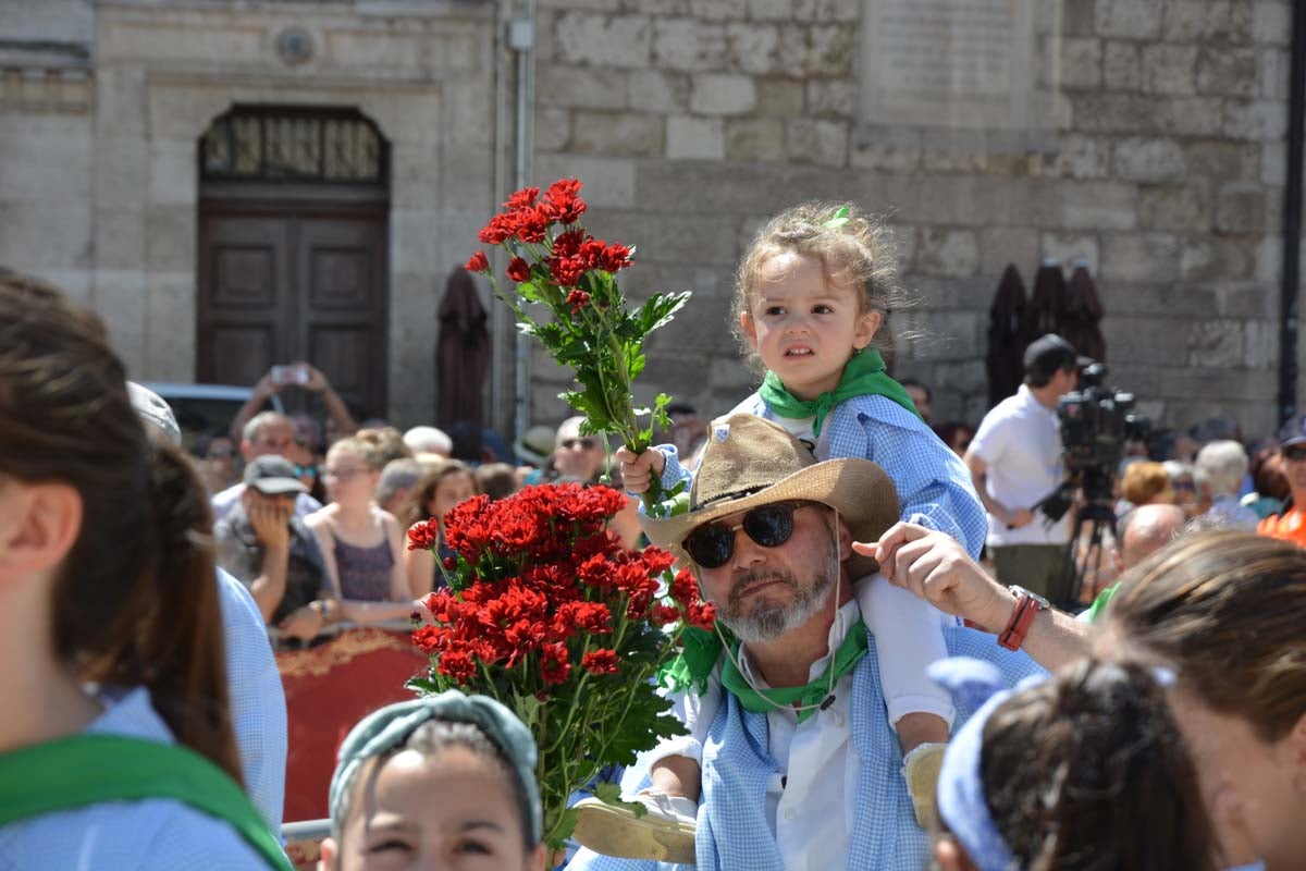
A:
POLYGON ((957 619, 879 573, 857 581, 853 592, 862 620, 875 636, 889 722, 897 723, 904 714, 927 713, 943 717, 952 729, 952 695, 930 680, 925 670, 948 656, 943 628, 957 626, 957 619))

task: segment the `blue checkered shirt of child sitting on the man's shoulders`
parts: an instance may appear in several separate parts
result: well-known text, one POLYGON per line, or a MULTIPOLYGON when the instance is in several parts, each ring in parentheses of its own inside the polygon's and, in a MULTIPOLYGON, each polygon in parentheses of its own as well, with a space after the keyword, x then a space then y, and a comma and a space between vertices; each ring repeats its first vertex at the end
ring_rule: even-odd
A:
MULTIPOLYGON (((777 419, 757 393, 730 411, 739 413, 777 419)), ((887 397, 855 396, 833 407, 821 436, 829 439, 832 458, 861 457, 884 469, 897 490, 902 520, 947 533, 980 558, 989 517, 970 471, 921 418, 887 397)), ((665 487, 690 478, 673 445, 657 449, 666 454, 665 487)))

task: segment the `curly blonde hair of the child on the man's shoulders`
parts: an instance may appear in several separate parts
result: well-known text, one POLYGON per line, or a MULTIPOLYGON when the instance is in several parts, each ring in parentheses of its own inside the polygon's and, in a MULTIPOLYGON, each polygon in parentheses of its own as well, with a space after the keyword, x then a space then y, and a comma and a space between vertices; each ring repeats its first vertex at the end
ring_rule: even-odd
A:
POLYGON ((859 291, 859 313, 880 312, 887 320, 891 309, 910 302, 899 283, 892 232, 882 219, 848 202, 811 201, 785 209, 757 231, 735 272, 730 328, 754 368, 760 370, 761 360, 741 321, 763 266, 782 253, 819 260, 827 282, 853 285, 859 291))

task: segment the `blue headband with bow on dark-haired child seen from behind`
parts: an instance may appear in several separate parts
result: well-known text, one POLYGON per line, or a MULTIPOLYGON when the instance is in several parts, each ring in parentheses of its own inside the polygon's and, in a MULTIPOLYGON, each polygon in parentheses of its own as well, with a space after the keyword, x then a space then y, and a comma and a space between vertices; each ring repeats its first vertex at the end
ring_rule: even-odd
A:
POLYGON ((952 736, 943 755, 936 799, 939 819, 965 847, 978 871, 1007 871, 1015 866, 1015 859, 989 812, 980 770, 983 726, 1002 703, 1042 683, 1047 675, 1027 678, 1015 689, 1008 689, 998 666, 970 657, 939 659, 930 665, 927 674, 976 712, 952 736))

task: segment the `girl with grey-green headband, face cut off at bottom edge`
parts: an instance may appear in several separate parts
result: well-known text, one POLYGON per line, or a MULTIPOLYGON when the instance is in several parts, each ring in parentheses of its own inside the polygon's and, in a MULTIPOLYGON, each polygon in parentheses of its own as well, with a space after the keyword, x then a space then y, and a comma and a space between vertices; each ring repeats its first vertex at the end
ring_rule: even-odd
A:
POLYGON ((330 784, 326 871, 543 871, 535 742, 511 710, 449 689, 354 726, 330 784))

